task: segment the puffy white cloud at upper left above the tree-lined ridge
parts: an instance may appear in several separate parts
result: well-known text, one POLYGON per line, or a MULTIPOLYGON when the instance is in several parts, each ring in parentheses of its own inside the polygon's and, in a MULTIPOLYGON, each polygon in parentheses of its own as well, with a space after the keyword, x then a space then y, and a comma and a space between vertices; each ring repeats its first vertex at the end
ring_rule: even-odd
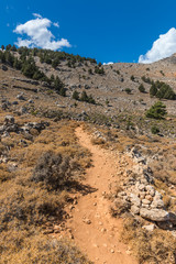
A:
POLYGON ((64 46, 70 47, 66 38, 55 40, 55 36, 48 30, 52 25, 58 28, 58 23, 53 23, 48 19, 42 18, 41 14, 34 13, 35 19, 28 21, 24 24, 19 24, 13 31, 16 34, 25 35, 26 37, 18 37, 15 43, 18 46, 42 47, 47 50, 59 50, 64 46))

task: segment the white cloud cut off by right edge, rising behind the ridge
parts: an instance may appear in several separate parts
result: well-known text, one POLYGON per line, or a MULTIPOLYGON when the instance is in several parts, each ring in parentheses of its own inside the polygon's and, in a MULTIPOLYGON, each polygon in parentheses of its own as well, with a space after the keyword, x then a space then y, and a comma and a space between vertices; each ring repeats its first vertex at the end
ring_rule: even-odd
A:
POLYGON ((166 34, 160 35, 145 55, 139 57, 139 63, 154 63, 174 53, 176 53, 176 29, 172 28, 166 34))

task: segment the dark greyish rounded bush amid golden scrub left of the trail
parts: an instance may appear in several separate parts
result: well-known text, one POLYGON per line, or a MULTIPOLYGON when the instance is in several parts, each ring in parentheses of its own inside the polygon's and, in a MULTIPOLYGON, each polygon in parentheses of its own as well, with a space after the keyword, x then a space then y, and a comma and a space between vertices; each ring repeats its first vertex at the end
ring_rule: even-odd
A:
POLYGON ((44 183, 48 190, 62 189, 72 182, 77 168, 78 164, 69 156, 46 152, 38 158, 31 180, 44 183))

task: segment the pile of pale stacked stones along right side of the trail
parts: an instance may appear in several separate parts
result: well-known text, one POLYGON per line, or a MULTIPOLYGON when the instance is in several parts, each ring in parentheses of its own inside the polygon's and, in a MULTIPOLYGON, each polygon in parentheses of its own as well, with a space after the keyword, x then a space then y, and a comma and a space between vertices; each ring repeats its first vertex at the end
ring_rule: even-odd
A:
POLYGON ((162 228, 175 226, 176 215, 165 210, 163 197, 153 186, 152 169, 146 165, 146 160, 135 148, 130 152, 130 156, 145 162, 134 165, 134 174, 123 185, 124 191, 118 194, 119 198, 130 204, 133 216, 140 215, 144 219, 157 222, 162 228))

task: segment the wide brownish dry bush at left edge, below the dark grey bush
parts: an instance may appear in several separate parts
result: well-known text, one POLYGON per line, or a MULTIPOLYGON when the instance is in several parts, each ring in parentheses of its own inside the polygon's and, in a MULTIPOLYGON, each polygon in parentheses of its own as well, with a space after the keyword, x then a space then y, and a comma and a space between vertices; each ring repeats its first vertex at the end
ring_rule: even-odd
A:
POLYGON ((12 185, 0 197, 0 232, 4 230, 28 230, 41 226, 51 216, 62 220, 65 197, 61 194, 48 194, 37 186, 28 188, 12 185))

